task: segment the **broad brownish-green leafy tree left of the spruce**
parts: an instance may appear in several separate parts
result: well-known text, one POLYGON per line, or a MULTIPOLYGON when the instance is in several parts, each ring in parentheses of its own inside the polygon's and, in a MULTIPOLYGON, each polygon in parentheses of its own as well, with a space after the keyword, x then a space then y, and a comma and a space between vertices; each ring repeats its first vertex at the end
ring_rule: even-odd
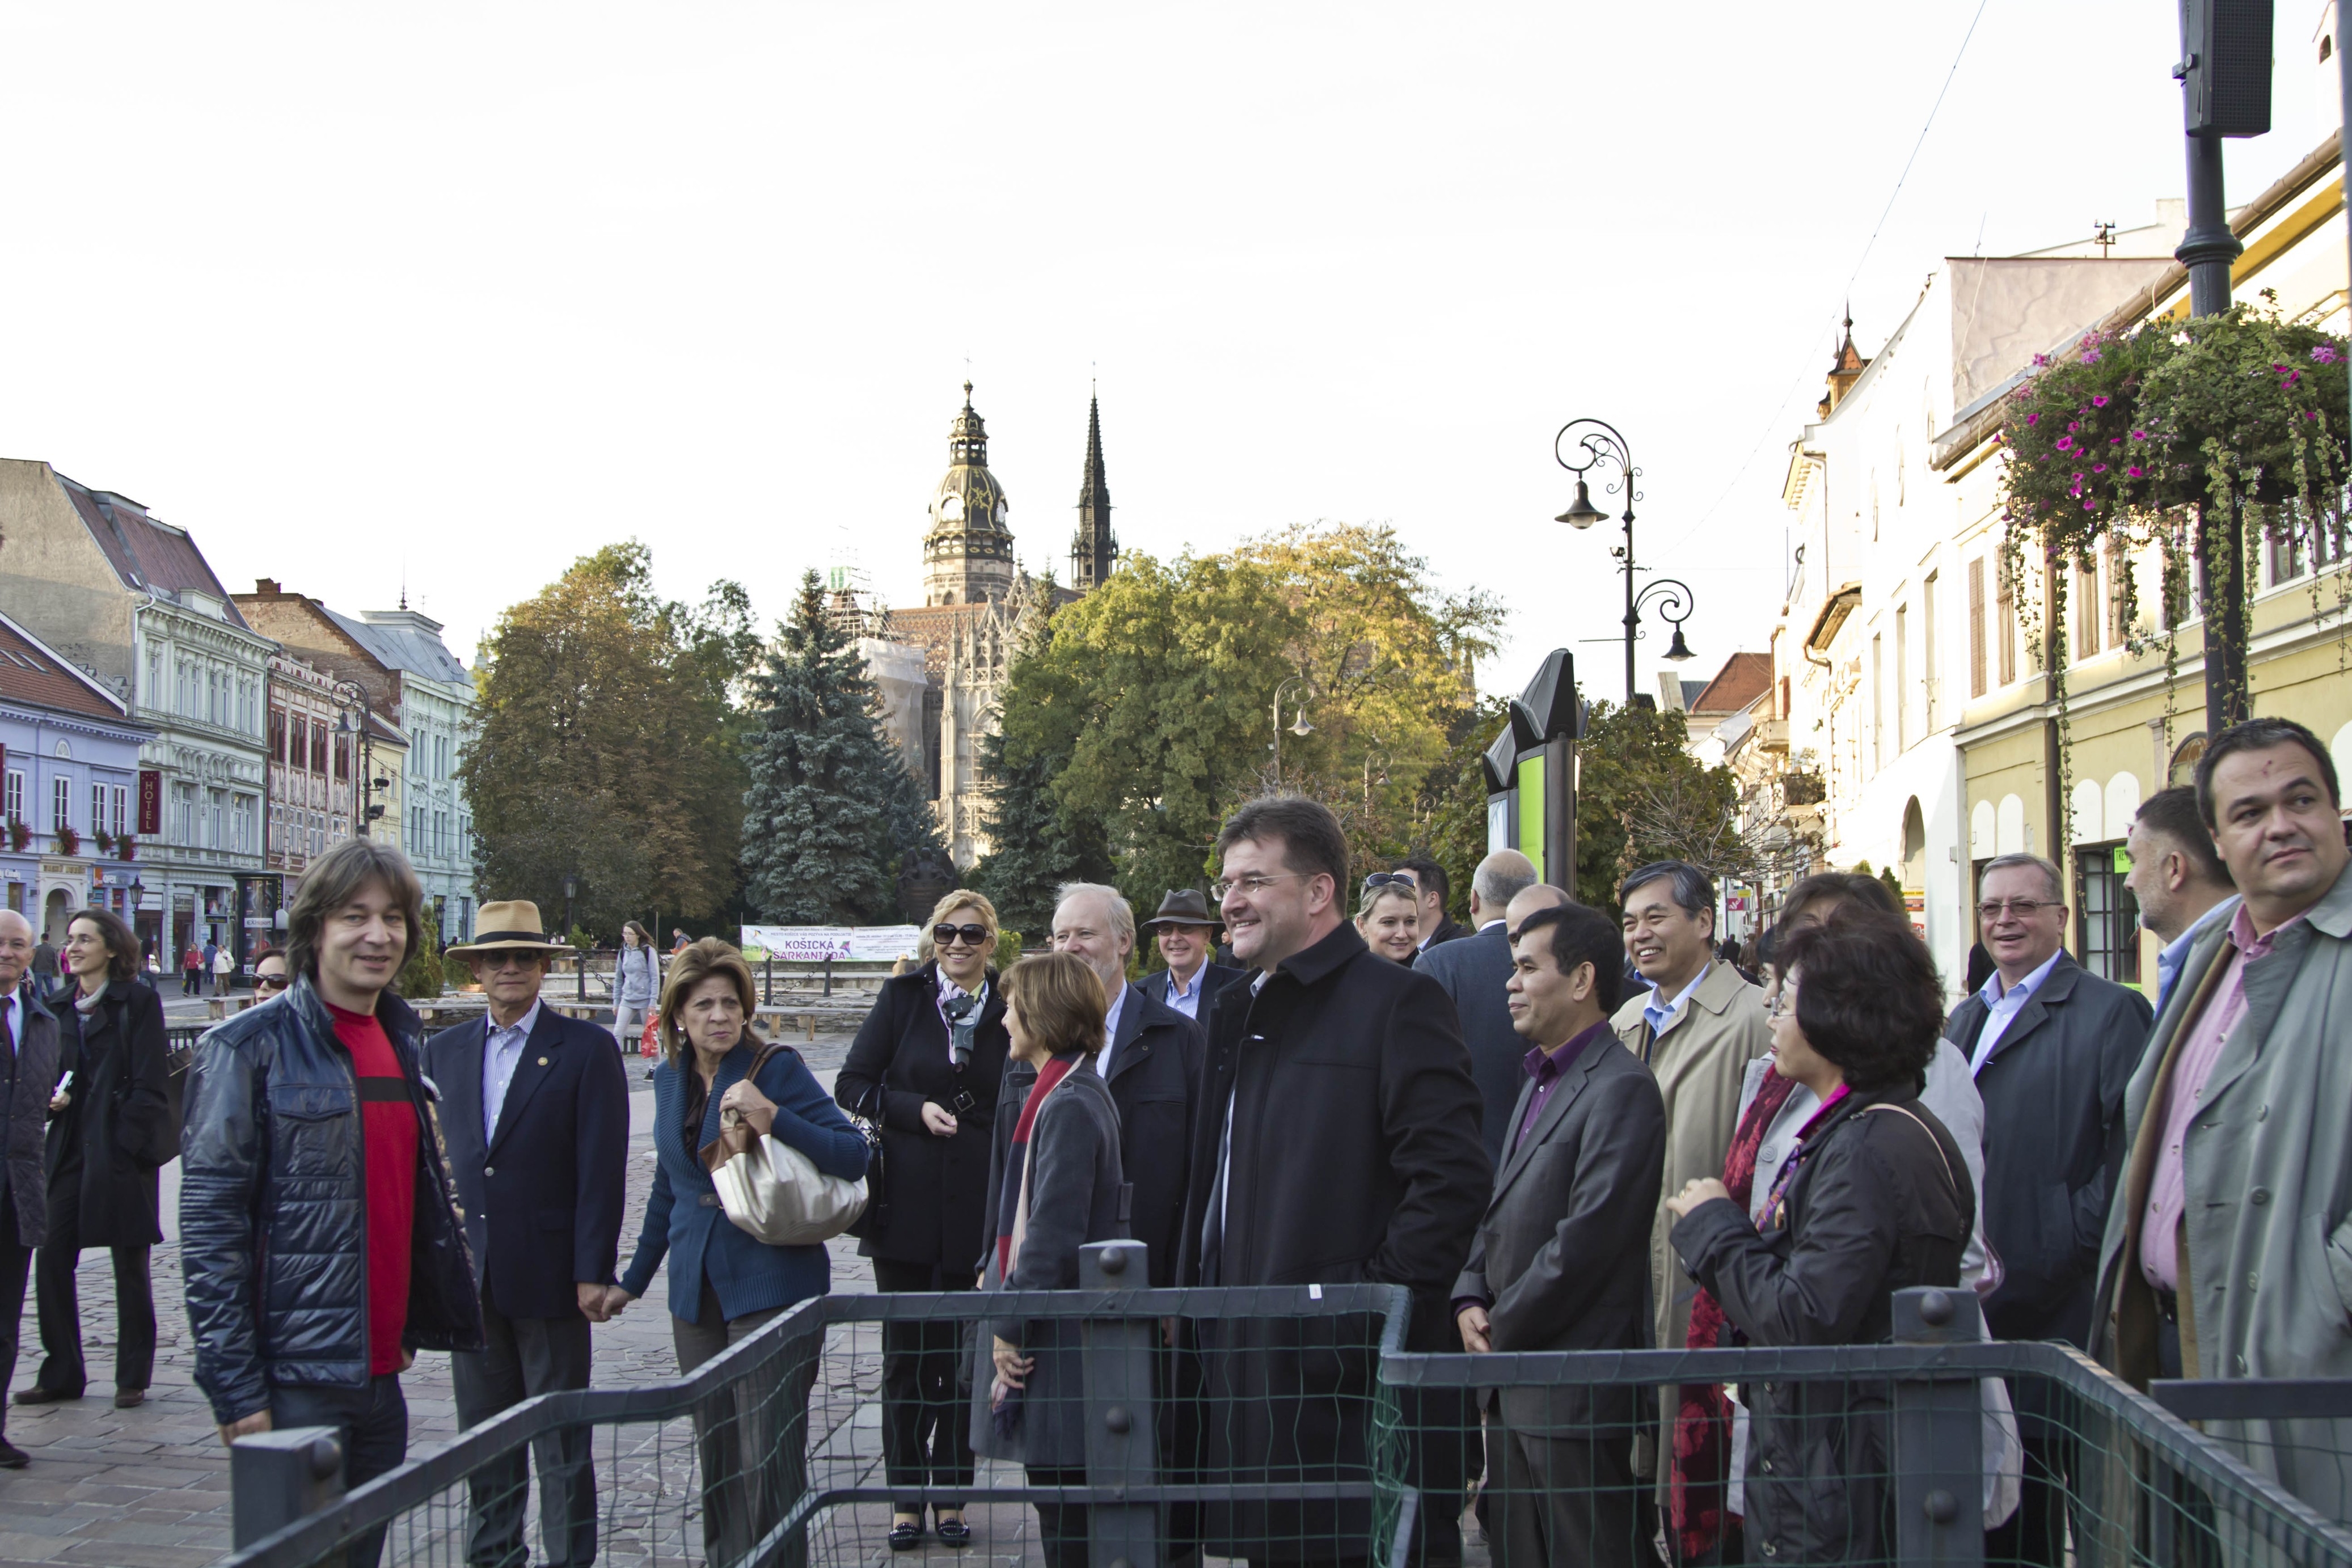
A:
POLYGON ((485 893, 616 936, 647 910, 694 919, 734 891, 743 766, 731 684, 750 599, 696 609, 652 588, 637 541, 583 555, 499 616, 475 670, 480 731, 459 778, 485 893))

